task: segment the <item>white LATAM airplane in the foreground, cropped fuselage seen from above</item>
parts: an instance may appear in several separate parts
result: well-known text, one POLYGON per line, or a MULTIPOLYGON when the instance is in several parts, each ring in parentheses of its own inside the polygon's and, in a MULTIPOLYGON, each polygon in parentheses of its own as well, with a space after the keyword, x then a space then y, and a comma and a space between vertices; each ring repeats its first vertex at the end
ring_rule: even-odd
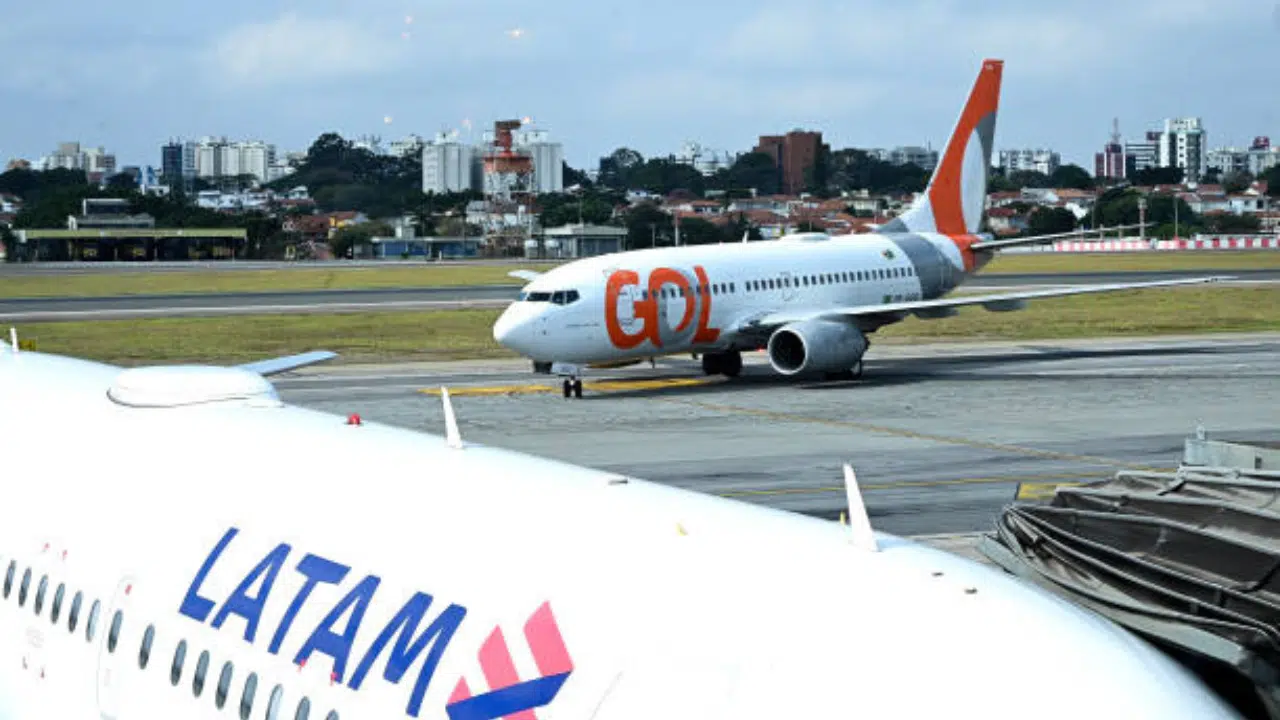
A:
POLYGON ((0 342, 0 719, 1235 717, 1011 575, 833 523, 0 342), (1055 691, 1052 688, 1059 688, 1055 691))

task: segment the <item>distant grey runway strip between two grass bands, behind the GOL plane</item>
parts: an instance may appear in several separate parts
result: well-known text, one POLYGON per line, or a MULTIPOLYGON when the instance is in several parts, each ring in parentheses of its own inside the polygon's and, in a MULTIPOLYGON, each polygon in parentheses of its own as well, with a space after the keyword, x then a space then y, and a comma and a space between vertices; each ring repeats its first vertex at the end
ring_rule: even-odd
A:
MULTIPOLYGON (((977 275, 966 288, 1101 284, 1202 275, 1234 275, 1247 282, 1280 282, 1280 269, 1171 270, 1123 273, 1034 273, 977 275)), ((3 282, 3 281, 0 281, 3 282)), ((429 288, 329 290, 305 292, 236 292, 191 295, 129 295, 113 297, 0 299, 0 322, 58 322, 148 316, 210 316, 237 314, 358 313, 502 307, 520 284, 429 288)))

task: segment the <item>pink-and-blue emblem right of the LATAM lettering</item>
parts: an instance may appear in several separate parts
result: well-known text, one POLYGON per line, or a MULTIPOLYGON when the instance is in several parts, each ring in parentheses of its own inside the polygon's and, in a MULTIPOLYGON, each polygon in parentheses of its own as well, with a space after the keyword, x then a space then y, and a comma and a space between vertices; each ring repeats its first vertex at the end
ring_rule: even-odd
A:
POLYGON ((541 676, 520 679, 502 628, 494 628, 480 647, 480 670, 489 692, 472 696, 467 679, 460 679, 445 706, 449 720, 538 720, 534 708, 550 703, 573 671, 550 603, 544 602, 525 623, 525 641, 541 676))

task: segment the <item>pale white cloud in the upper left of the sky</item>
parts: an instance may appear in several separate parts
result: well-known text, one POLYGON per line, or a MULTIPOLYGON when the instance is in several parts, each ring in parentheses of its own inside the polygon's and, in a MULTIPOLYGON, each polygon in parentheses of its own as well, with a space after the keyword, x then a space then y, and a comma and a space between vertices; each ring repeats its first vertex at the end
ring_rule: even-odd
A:
POLYGON ((228 88, 328 82, 397 69, 407 55, 399 28, 294 13, 233 27, 205 54, 228 88), (394 29, 394 32, 392 32, 394 29))

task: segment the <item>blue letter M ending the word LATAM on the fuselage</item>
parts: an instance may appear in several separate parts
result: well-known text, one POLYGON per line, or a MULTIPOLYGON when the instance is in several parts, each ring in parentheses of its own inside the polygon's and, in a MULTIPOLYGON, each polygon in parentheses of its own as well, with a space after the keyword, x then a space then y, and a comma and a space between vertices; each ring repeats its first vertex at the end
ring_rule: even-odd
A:
POLYGON ((398 684, 413 661, 417 660, 417 656, 430 644, 431 651, 426 653, 422 670, 417 674, 417 683, 413 684, 413 694, 408 700, 407 712, 417 717, 417 712, 422 707, 422 696, 426 694, 426 688, 431 683, 431 675, 435 674, 435 666, 440 664, 440 656, 444 655, 449 641, 453 639, 453 633, 457 632, 458 625, 462 624, 462 619, 467 615, 467 609, 460 605, 445 607, 444 612, 440 612, 428 625, 426 630, 422 630, 422 634, 413 639, 413 644, 410 644, 410 637, 417 630, 430 606, 431 596, 421 592, 415 593, 404 603, 404 607, 392 618, 392 621, 387 624, 381 634, 378 635, 378 639, 374 641, 374 644, 369 646, 365 659, 360 661, 356 674, 351 676, 351 689, 360 689, 360 683, 365 680, 365 675, 372 667, 374 660, 378 660, 383 648, 387 647, 387 643, 390 642, 392 635, 396 635, 397 632, 399 634, 396 637, 396 646, 392 648, 392 653, 387 659, 387 669, 383 671, 383 678, 390 683, 398 684))

